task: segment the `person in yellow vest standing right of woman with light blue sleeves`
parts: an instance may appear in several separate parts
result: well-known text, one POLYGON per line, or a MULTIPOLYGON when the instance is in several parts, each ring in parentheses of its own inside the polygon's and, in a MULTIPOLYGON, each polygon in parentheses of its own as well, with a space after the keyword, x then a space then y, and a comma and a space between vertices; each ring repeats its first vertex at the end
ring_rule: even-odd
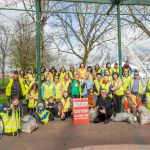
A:
POLYGON ((55 76, 54 87, 55 87, 55 90, 56 90, 55 101, 56 101, 56 103, 59 103, 61 98, 62 98, 63 89, 62 89, 62 82, 59 81, 58 76, 55 76))

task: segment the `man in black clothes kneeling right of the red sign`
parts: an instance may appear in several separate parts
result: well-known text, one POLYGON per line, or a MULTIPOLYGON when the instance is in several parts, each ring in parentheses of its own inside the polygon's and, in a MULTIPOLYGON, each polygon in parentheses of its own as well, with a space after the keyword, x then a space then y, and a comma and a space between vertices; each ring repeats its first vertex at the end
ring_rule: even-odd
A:
POLYGON ((97 98, 97 109, 98 115, 94 119, 94 123, 104 122, 109 123, 110 117, 112 116, 112 102, 109 97, 106 96, 106 90, 101 90, 100 96, 97 98))

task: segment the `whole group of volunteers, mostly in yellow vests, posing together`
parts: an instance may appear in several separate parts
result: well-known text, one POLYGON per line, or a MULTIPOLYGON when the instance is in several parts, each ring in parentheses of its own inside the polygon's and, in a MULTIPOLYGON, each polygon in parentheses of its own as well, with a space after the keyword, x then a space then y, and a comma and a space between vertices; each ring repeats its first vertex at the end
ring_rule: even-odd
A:
POLYGON ((15 133, 21 129, 20 118, 24 116, 24 100, 28 114, 39 124, 56 118, 72 118, 74 98, 88 98, 89 110, 97 111, 92 120, 94 123, 107 124, 112 115, 122 111, 132 113, 136 121, 138 107, 144 105, 150 109, 150 79, 144 85, 139 72, 132 73, 128 61, 122 67, 122 74, 120 78, 118 63, 112 68, 109 62, 105 68, 98 64, 85 67, 81 63, 79 68, 75 69, 70 65, 69 70, 61 67, 60 71, 54 66, 49 70, 42 66, 42 100, 39 101, 38 83, 32 68, 27 71, 14 71, 6 87, 10 104, 3 104, 1 111, 5 133, 15 133))

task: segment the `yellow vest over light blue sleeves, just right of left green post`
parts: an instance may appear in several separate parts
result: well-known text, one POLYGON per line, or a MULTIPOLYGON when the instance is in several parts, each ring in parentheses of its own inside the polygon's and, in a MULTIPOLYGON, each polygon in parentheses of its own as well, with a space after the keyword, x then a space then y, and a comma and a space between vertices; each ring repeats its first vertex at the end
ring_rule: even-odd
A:
POLYGON ((44 92, 44 95, 43 95, 44 99, 48 99, 51 96, 54 96, 54 83, 53 82, 51 82, 50 85, 43 83, 42 88, 44 88, 44 91, 43 91, 44 92))

